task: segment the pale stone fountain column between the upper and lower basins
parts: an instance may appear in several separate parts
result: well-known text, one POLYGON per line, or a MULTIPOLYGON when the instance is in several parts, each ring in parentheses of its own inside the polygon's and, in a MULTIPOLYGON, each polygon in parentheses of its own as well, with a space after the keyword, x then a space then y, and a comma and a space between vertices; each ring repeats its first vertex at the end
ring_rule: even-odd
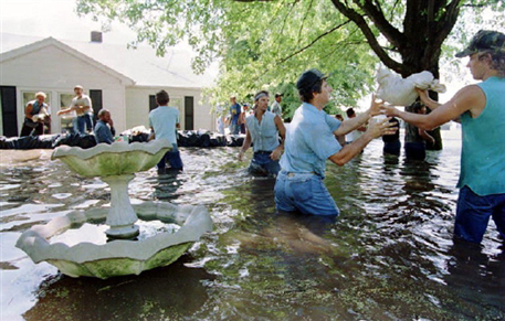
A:
POLYGON ((111 228, 105 233, 112 238, 133 238, 139 234, 135 225, 138 217, 128 196, 128 184, 134 178, 134 174, 102 178, 111 186, 111 210, 105 221, 111 228))

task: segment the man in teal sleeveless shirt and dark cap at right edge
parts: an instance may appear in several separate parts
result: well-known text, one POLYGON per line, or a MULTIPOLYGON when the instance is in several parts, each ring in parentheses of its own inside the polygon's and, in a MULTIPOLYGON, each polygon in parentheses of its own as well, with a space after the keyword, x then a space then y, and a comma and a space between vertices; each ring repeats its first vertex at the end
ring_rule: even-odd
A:
POLYGON ((490 217, 505 239, 505 34, 481 30, 456 57, 470 56, 467 67, 476 81, 460 89, 448 103, 432 100, 418 89, 428 115, 385 107, 424 130, 450 120, 462 125, 461 173, 454 235, 456 239, 481 243, 490 217))

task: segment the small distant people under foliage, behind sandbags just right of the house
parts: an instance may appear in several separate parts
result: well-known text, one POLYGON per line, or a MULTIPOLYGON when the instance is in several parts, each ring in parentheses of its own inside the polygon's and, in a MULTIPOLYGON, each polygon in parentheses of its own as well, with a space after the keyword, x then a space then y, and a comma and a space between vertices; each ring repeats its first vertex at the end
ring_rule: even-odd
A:
MULTIPOLYGON (((272 106, 266 106, 267 110, 277 115, 281 118, 281 120, 283 117, 282 107, 281 107, 282 97, 283 97, 283 94, 281 94, 281 93, 275 94, 275 100, 272 104, 272 106)), ((255 113, 255 109, 257 107, 256 100, 254 100, 254 105, 251 110, 250 110, 249 103, 244 103, 242 106, 239 103, 236 103, 236 96, 231 96, 230 103, 231 103, 231 106, 229 108, 228 117, 224 117, 224 116, 218 117, 218 131, 220 133, 224 133, 224 126, 228 125, 231 135, 245 133, 245 119, 248 116, 255 113)), ((267 104, 269 104, 269 101, 267 101, 267 104)))

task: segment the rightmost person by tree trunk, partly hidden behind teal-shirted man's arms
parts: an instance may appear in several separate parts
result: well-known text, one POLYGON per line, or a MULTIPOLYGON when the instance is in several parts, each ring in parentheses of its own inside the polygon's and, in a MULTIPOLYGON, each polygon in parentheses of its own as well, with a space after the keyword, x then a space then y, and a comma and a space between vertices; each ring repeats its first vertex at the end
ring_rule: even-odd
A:
MULTIPOLYGON (((425 115, 427 107, 421 101, 415 101, 406 107, 407 111, 425 115)), ((424 129, 415 127, 409 122, 406 124, 406 158, 413 160, 424 160, 427 157, 427 141, 431 145, 435 139, 424 129)))

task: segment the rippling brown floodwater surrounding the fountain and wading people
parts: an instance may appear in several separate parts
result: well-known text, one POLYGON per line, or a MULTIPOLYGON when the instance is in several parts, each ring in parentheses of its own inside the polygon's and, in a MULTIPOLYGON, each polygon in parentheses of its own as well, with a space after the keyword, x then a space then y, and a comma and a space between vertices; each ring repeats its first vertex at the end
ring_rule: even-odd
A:
POLYGON ((461 141, 424 162, 383 157, 381 140, 325 180, 336 222, 275 213, 274 181, 245 174, 236 148, 181 148, 185 172, 155 169, 133 203, 202 204, 214 231, 175 264, 99 280, 62 276, 14 247, 34 224, 109 203, 50 150, 2 151, 1 320, 504 320, 505 255, 452 240, 461 141))

